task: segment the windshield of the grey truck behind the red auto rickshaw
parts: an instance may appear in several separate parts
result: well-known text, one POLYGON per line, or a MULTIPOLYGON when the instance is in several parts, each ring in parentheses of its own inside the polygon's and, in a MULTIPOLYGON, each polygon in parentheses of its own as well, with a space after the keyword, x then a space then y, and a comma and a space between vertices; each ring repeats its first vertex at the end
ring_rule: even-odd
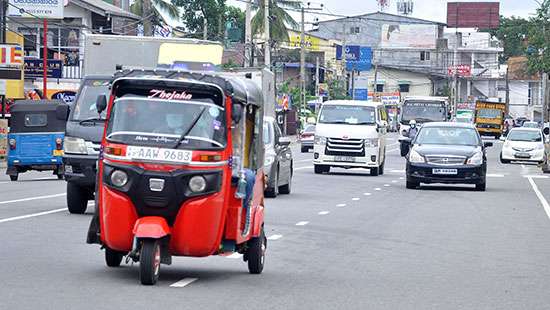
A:
POLYGON ((78 99, 75 103, 74 113, 71 120, 83 121, 93 118, 104 119, 107 111, 101 113, 100 116, 97 113, 95 103, 99 95, 107 95, 108 93, 108 81, 88 81, 80 90, 80 94, 78 94, 78 99))

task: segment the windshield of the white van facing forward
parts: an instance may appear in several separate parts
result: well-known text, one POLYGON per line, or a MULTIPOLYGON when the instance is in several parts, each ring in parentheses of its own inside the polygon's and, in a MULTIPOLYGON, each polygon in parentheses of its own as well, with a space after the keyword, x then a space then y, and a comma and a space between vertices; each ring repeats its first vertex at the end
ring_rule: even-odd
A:
POLYGON ((374 125, 376 110, 373 107, 359 105, 327 105, 321 111, 319 123, 374 125))

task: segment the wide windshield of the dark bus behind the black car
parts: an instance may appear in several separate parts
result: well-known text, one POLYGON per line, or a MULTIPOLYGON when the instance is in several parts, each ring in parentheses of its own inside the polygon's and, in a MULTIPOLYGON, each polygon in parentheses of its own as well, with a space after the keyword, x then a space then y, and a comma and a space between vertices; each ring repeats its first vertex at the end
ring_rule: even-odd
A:
POLYGON ((447 120, 445 104, 441 101, 406 101, 401 109, 401 120, 417 122, 438 122, 447 120))

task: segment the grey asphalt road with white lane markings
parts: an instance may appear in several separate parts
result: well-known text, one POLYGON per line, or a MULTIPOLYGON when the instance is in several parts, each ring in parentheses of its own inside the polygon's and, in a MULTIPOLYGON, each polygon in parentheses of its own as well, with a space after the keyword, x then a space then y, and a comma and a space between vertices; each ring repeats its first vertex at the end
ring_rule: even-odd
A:
POLYGON ((393 139, 379 177, 315 175, 294 148, 292 194, 266 202, 262 275, 239 257, 176 258, 154 287, 85 243, 93 207, 69 215, 63 181, 1 175, 0 309, 548 309, 550 179, 498 163, 497 142, 487 192, 406 190, 393 139))

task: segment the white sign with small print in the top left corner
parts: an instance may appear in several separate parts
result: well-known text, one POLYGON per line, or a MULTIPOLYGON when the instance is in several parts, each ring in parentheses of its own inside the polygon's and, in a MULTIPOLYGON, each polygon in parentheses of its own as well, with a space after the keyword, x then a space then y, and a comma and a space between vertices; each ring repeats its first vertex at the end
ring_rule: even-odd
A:
POLYGON ((63 19, 63 0, 9 0, 8 16, 63 19))

